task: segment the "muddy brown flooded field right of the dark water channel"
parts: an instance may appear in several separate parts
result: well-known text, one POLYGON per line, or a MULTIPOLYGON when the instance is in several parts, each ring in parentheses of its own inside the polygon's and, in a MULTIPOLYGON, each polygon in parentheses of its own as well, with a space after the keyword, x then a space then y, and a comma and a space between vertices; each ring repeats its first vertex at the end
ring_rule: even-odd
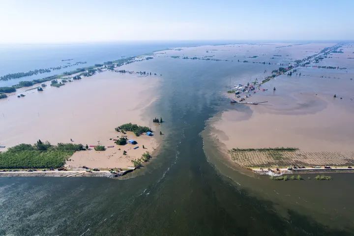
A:
MULTIPOLYGON (((299 59, 305 60, 295 69, 277 75, 266 83, 255 83, 253 91, 238 94, 245 97, 247 102, 266 103, 230 104, 209 119, 209 135, 223 152, 230 150, 228 158, 231 157, 242 167, 354 164, 354 66, 350 59, 354 45, 336 45, 335 49, 321 54, 328 47, 333 45, 274 47, 268 48, 269 51, 261 57, 247 59, 260 61, 261 58, 270 57, 270 62, 277 60, 276 64, 282 67, 294 65, 299 59), (317 58, 308 59, 318 54, 320 56, 317 58), (232 150, 235 147, 296 147, 298 150, 232 150)), ((256 55, 262 47, 255 45, 248 53, 251 54, 252 50, 256 55)), ((234 85, 262 81, 270 74, 271 66, 259 65, 257 71, 260 74, 232 77, 223 92, 224 96, 240 99, 226 91, 234 85), (261 71, 264 71, 263 75, 261 71)))

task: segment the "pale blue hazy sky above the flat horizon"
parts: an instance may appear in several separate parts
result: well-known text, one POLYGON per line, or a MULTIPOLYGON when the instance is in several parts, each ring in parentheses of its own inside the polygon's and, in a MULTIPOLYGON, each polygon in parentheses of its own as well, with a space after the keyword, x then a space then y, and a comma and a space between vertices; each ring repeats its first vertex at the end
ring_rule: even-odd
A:
POLYGON ((1 0, 0 43, 353 40, 354 0, 1 0))

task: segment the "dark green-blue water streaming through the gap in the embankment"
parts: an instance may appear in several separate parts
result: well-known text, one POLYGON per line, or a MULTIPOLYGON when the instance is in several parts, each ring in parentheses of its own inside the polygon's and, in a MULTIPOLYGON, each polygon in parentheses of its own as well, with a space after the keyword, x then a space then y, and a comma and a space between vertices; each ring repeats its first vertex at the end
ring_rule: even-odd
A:
POLYGON ((163 74, 151 108, 166 121, 158 155, 123 179, 0 178, 0 235, 351 235, 292 209, 284 217, 235 181, 274 184, 268 178, 224 177, 208 161, 200 134, 228 103, 228 76, 263 65, 160 58, 132 68, 163 74))

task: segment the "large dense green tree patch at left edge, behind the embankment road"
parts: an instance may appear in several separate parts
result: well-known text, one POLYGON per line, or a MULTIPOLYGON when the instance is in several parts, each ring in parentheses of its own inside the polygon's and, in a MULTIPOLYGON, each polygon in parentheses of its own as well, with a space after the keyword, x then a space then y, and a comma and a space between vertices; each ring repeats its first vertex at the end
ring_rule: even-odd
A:
POLYGON ((81 144, 51 145, 38 140, 36 144, 20 144, 0 152, 0 169, 59 168, 75 151, 84 150, 81 144))

